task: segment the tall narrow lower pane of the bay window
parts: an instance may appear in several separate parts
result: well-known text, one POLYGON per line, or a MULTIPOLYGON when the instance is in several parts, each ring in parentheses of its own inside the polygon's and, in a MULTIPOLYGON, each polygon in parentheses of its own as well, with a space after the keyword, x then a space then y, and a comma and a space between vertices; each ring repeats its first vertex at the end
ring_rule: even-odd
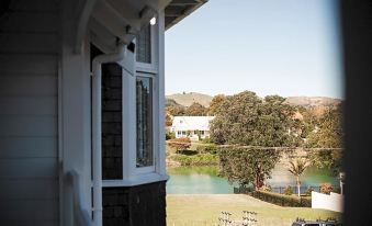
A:
POLYGON ((137 77, 137 167, 153 166, 153 79, 137 77))

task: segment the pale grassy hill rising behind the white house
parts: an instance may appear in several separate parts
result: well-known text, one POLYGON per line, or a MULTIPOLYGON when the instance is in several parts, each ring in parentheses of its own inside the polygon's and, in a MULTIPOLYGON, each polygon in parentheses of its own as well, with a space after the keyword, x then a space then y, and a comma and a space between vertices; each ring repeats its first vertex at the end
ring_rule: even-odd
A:
POLYGON ((176 93, 171 95, 167 95, 167 102, 170 103, 173 100, 178 104, 181 104, 183 106, 190 106, 193 102, 198 102, 202 104, 203 106, 210 106, 210 103, 213 99, 213 97, 207 94, 202 94, 198 92, 188 92, 188 93, 176 93))

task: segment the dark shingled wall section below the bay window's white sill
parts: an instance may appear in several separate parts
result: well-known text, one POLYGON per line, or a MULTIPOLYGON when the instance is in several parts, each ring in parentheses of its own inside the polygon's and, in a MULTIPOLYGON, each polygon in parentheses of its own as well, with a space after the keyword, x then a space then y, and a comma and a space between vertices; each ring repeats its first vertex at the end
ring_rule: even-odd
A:
POLYGON ((103 189, 104 226, 166 226, 166 181, 103 189))

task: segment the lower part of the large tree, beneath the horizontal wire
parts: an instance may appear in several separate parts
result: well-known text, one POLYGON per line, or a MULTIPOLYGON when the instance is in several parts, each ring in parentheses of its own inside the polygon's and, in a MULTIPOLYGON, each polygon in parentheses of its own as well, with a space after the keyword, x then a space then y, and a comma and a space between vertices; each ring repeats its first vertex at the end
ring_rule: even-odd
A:
POLYGON ((264 180, 271 177, 271 171, 280 159, 280 151, 274 148, 257 149, 243 147, 222 148, 219 151, 221 174, 240 187, 253 184, 260 189, 264 180))

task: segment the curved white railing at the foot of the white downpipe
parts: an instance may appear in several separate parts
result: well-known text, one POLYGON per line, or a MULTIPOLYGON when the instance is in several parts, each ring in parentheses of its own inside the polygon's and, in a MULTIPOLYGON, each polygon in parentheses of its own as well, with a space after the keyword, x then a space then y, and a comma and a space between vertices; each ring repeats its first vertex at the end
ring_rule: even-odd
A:
POLYGON ((92 226, 93 222, 89 215, 90 208, 87 206, 87 202, 83 199, 79 173, 76 170, 71 170, 67 173, 67 179, 72 187, 74 219, 80 226, 92 226))

